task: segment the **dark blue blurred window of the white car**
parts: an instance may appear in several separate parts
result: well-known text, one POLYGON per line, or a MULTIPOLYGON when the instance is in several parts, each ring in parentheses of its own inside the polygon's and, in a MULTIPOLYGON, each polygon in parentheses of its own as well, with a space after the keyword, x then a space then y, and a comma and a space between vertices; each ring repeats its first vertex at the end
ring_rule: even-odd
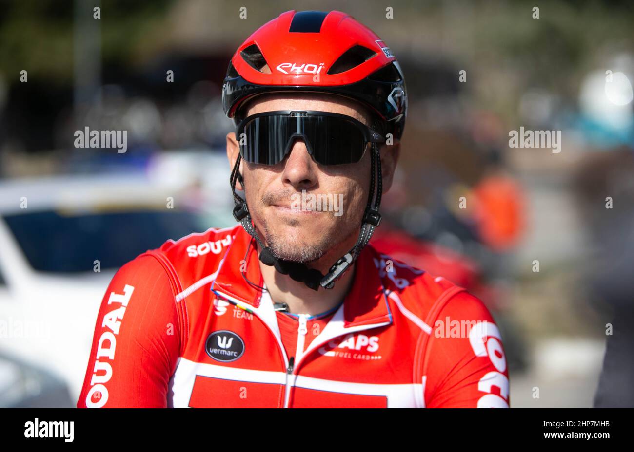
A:
POLYGON ((4 220, 31 267, 51 273, 91 272, 96 259, 102 269, 119 268, 167 239, 216 224, 202 213, 174 210, 47 210, 5 215, 4 220))

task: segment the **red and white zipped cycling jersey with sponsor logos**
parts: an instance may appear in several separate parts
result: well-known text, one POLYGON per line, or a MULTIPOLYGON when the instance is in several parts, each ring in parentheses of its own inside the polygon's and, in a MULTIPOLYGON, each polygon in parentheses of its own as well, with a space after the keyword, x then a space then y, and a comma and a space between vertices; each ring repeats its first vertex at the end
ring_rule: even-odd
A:
POLYGON ((283 343, 254 245, 210 229, 120 268, 77 406, 508 407, 500 332, 462 287, 368 245, 338 310, 283 343))

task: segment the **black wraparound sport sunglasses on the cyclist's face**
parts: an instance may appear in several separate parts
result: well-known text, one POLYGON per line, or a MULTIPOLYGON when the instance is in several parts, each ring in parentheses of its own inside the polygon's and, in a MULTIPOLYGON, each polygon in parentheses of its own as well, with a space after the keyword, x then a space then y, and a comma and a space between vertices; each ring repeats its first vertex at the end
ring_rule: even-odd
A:
POLYGON ((351 116, 313 110, 266 111, 247 116, 238 124, 236 137, 242 158, 261 165, 284 160, 297 137, 304 139, 308 153, 320 165, 356 163, 363 157, 366 144, 385 141, 351 116))

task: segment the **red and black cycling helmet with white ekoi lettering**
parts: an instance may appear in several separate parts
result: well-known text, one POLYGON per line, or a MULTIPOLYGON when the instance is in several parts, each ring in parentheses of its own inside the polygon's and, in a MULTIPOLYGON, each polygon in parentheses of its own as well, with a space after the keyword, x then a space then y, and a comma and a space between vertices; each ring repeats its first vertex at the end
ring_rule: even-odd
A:
POLYGON ((397 139, 403 134, 403 72, 389 47, 346 13, 287 11, 238 47, 224 78, 224 113, 237 124, 247 99, 275 91, 349 97, 375 113, 372 129, 397 139))

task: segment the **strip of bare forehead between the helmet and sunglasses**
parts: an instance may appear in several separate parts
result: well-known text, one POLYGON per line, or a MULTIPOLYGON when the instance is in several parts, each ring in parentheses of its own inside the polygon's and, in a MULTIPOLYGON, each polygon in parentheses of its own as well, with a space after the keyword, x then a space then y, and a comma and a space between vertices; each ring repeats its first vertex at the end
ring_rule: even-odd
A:
POLYGON ((365 125, 372 123, 370 112, 361 104, 334 94, 312 92, 271 93, 255 97, 245 105, 245 116, 275 110, 317 110, 352 116, 365 125))

